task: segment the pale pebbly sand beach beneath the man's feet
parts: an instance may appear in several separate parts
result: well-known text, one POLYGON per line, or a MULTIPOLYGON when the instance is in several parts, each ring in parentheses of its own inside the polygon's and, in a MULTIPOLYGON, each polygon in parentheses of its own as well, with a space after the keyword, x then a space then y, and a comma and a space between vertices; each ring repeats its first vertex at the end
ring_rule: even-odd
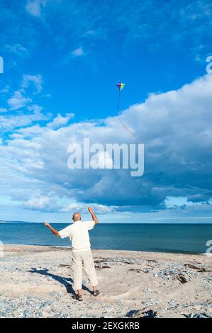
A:
POLYGON ((79 303, 70 249, 5 245, 0 317, 212 317, 212 257, 92 250, 101 295, 84 277, 79 303))

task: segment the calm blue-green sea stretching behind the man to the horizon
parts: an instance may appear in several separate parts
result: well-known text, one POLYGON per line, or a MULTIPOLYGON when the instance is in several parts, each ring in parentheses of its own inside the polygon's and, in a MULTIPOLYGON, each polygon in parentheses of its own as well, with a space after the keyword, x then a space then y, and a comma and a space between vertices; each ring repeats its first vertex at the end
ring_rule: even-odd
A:
MULTIPOLYGON (((52 224, 57 230, 65 224, 52 224)), ((99 224, 90 232, 93 249, 152 252, 206 252, 212 224, 99 224)), ((41 223, 0 223, 0 240, 9 244, 69 246, 41 223)))

